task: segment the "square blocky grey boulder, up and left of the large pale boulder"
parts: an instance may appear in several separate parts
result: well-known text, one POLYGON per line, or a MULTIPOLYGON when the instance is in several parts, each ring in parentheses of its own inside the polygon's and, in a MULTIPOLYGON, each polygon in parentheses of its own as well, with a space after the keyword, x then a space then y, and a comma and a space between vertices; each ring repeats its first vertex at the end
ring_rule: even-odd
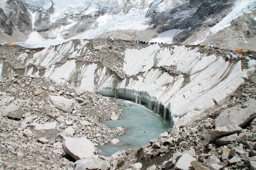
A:
POLYGON ((36 124, 35 125, 35 137, 46 138, 49 143, 56 141, 57 137, 57 122, 36 124))

